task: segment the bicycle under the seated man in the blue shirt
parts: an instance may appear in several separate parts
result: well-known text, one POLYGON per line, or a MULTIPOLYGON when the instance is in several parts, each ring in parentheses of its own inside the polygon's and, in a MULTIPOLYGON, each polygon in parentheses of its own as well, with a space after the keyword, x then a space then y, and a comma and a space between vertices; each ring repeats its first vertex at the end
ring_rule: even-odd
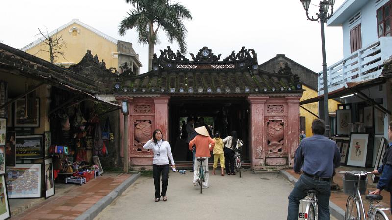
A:
POLYGON ((317 206, 316 196, 319 191, 315 189, 306 189, 304 192, 306 193, 306 197, 302 199, 302 204, 306 203, 305 212, 300 212, 298 217, 306 220, 318 220, 319 208, 317 206))

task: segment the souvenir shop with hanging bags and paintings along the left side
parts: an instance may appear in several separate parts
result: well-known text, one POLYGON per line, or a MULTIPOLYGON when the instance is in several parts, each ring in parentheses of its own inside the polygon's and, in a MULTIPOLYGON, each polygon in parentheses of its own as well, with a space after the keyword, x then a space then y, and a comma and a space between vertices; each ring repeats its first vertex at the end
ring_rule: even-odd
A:
MULTIPOLYGON (((94 80, 0 43, 0 220, 8 199, 49 198, 56 184, 103 173, 115 138, 94 80)), ((87 183, 88 184, 88 183, 87 183)))

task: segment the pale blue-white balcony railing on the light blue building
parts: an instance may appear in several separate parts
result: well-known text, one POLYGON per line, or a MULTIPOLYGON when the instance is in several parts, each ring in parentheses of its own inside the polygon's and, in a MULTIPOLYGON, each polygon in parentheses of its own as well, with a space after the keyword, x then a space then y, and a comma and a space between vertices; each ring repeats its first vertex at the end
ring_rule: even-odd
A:
MULTIPOLYGON (((327 67, 328 92, 344 86, 346 82, 358 82, 377 78, 384 60, 392 55, 392 37, 381 37, 339 62, 327 67)), ((319 95, 324 94, 324 78, 319 74, 319 95)))

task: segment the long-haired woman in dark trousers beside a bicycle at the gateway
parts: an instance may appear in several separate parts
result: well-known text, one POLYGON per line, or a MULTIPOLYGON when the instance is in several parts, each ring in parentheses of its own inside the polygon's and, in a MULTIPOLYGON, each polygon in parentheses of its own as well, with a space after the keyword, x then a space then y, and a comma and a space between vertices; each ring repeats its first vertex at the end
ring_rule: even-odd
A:
POLYGON ((234 149, 237 149, 238 146, 238 136, 237 131, 232 131, 231 136, 227 136, 223 139, 224 146, 224 162, 226 167, 227 175, 235 175, 234 172, 234 149))

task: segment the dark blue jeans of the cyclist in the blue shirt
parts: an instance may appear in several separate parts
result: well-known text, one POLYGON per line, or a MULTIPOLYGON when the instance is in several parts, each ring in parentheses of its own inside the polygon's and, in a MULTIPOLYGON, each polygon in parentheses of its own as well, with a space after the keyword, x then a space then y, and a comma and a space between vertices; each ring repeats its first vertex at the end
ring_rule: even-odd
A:
POLYGON ((287 220, 298 220, 299 200, 303 199, 306 189, 316 189, 317 205, 319 207, 319 220, 329 220, 329 196, 331 196, 331 183, 329 181, 314 180, 313 178, 301 175, 289 196, 289 208, 287 220))

